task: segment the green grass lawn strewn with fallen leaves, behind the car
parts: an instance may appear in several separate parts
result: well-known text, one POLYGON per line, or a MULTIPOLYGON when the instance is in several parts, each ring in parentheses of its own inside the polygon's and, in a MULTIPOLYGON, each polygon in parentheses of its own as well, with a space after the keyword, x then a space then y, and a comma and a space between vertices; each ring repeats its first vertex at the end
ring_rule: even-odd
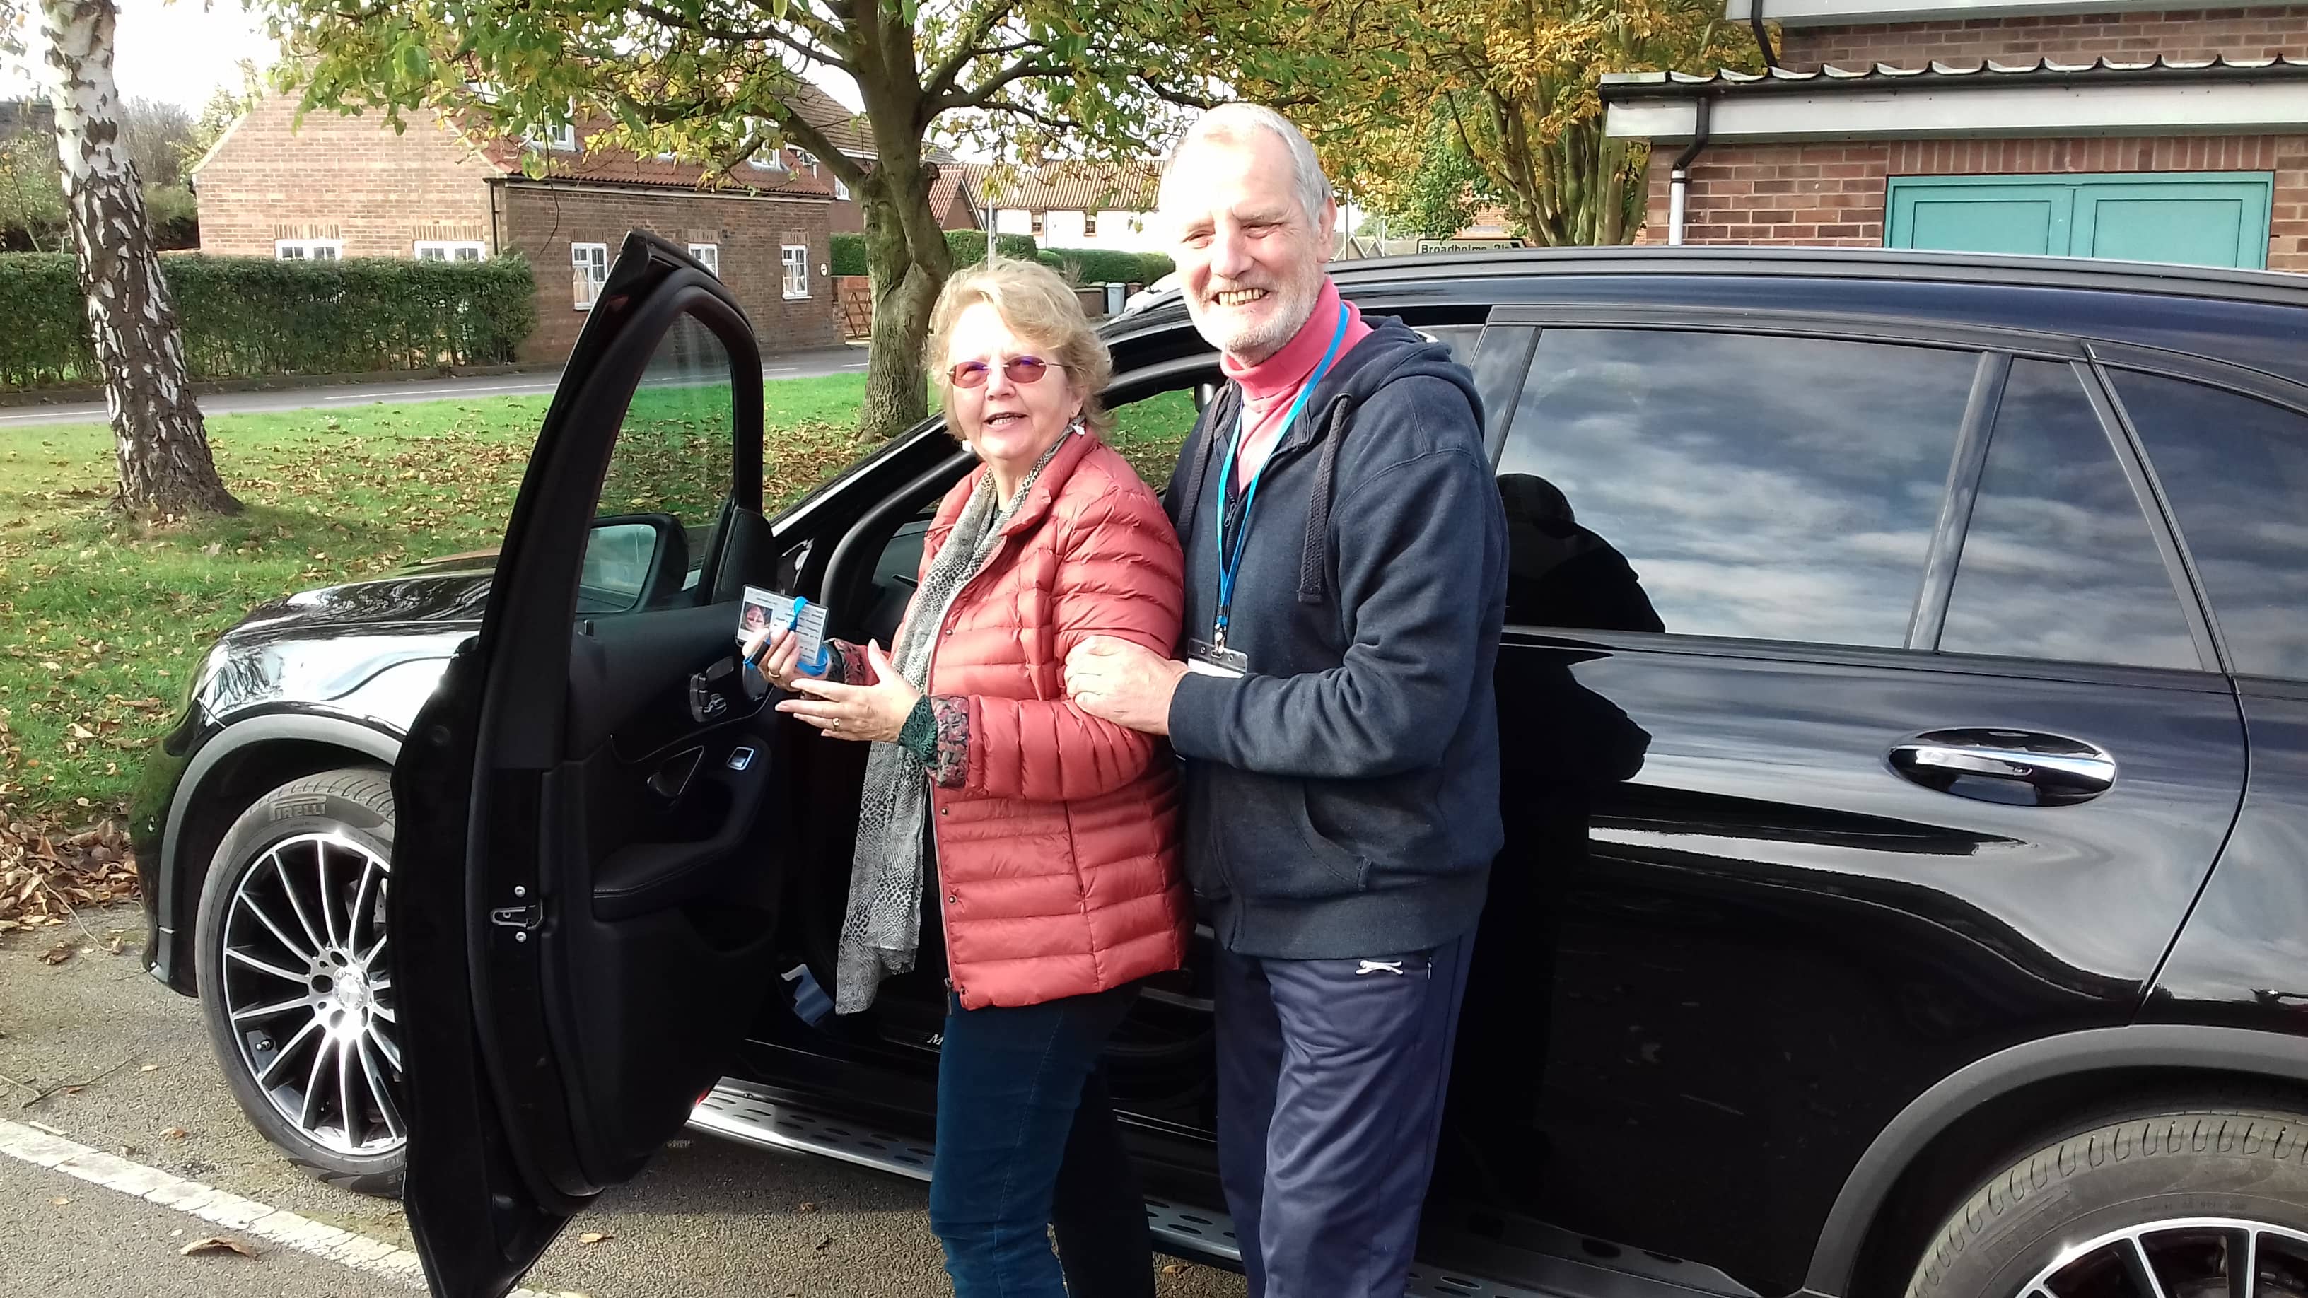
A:
MULTIPOLYGON (((764 494, 775 508, 868 450, 863 374, 764 386, 764 494)), ((662 411, 695 434, 695 390, 662 411)), ((547 397, 219 416, 228 520, 138 522, 106 510, 111 430, 0 432, 0 827, 9 808, 92 820, 127 801, 141 753, 175 718, 219 631, 291 591, 492 550, 547 397)), ((1115 443, 1156 487, 1193 425, 1186 393, 1122 411, 1115 443)), ((628 425, 630 427, 630 425, 628 425)))

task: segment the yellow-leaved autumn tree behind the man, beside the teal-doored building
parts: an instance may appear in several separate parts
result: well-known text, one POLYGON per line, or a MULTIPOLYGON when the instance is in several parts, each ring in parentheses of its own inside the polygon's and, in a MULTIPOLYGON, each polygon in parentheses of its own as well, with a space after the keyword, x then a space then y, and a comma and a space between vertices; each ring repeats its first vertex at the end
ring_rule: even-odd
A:
POLYGON ((1459 210, 1452 196, 1479 196, 1549 247, 1627 243, 1643 222, 1648 150, 1602 134, 1604 72, 1761 67, 1722 0, 1385 0, 1341 12, 1385 39, 1299 49, 1290 76, 1244 83, 1249 97, 1292 104, 1364 206, 1431 226, 1459 210))

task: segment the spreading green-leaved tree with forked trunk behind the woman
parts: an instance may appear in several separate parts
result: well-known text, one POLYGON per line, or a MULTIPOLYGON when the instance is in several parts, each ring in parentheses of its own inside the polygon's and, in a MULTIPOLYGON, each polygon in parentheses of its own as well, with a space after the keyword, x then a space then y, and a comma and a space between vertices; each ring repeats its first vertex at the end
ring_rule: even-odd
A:
POLYGON ((1170 39, 1177 0, 1085 9, 1062 0, 258 0, 305 106, 429 106, 503 134, 572 118, 642 155, 727 176, 803 148, 859 199, 875 333, 861 430, 926 413, 921 346, 953 270, 930 210, 932 129, 1013 159, 1129 157, 1207 97, 1209 67, 1170 39), (815 69, 856 81, 872 159, 835 148, 799 88, 815 69))

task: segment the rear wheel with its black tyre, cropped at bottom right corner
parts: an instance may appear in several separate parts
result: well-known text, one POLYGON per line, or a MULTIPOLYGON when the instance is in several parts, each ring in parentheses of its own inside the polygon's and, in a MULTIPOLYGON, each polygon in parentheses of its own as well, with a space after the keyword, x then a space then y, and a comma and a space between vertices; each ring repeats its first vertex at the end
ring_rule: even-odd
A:
POLYGON ((2303 1159, 2301 1113, 2110 1120, 1978 1187, 1925 1249, 1906 1296, 2308 1293, 2303 1159), (2230 1289, 2232 1273, 2253 1280, 2230 1289))

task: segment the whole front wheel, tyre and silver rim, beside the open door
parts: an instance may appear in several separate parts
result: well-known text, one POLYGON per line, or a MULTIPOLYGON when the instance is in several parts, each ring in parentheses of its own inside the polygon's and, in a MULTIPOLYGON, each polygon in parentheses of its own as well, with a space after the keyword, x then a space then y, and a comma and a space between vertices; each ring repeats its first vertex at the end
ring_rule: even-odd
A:
POLYGON ((390 861, 390 771, 291 781, 226 829, 194 938, 201 1016, 242 1113, 312 1176, 383 1196, 402 1192, 409 1146, 390 861))

